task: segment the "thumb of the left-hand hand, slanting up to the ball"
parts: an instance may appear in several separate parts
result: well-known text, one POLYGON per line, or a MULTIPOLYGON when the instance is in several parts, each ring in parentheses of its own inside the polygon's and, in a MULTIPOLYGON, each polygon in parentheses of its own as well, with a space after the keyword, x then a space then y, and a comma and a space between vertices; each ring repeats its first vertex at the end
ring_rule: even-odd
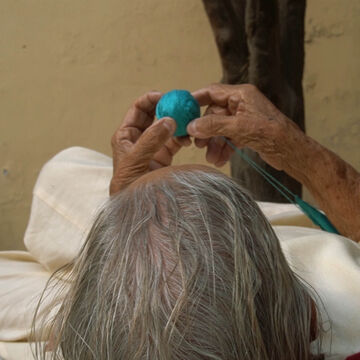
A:
POLYGON ((135 143, 132 154, 141 162, 149 162, 173 136, 176 130, 174 119, 166 117, 148 127, 135 143))

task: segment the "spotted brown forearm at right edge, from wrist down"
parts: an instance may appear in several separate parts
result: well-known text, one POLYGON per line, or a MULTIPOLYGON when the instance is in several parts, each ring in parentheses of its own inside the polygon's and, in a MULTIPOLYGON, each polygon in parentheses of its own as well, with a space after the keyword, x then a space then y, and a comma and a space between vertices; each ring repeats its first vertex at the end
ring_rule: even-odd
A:
POLYGON ((342 235, 360 242, 360 174, 292 123, 281 132, 283 170, 309 189, 342 235))

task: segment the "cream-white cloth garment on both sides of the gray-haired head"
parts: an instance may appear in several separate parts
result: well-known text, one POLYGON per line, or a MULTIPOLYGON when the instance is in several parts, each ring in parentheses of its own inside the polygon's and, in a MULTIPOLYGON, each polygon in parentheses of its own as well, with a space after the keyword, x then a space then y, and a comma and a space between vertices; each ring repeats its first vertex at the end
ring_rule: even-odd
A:
MULTIPOLYGON (((43 167, 24 239, 28 251, 0 253, 0 356, 4 359, 32 359, 26 340, 41 291, 51 273, 79 251, 108 197, 111 175, 109 157, 80 147, 60 152, 43 167)), ((259 205, 290 266, 323 302, 319 306, 328 330, 323 338, 327 358, 344 359, 359 352, 360 246, 311 228, 291 204, 259 205)), ((54 311, 53 299, 41 311, 54 311)))

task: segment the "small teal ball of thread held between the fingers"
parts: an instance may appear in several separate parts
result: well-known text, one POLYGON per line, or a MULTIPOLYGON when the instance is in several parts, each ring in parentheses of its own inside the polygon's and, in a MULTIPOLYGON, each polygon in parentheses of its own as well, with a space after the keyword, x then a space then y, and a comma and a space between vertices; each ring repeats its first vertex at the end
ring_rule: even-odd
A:
POLYGON ((156 117, 171 117, 177 127, 174 136, 187 135, 186 126, 200 117, 200 106, 187 90, 172 90, 164 94, 156 106, 156 117))

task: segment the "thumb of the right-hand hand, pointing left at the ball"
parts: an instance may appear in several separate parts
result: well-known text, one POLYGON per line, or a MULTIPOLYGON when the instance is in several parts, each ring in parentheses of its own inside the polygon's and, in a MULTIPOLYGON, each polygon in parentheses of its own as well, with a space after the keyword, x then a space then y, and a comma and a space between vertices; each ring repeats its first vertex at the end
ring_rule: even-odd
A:
POLYGON ((234 116, 210 114, 191 121, 186 130, 198 139, 221 135, 232 137, 236 133, 236 119, 234 116))

